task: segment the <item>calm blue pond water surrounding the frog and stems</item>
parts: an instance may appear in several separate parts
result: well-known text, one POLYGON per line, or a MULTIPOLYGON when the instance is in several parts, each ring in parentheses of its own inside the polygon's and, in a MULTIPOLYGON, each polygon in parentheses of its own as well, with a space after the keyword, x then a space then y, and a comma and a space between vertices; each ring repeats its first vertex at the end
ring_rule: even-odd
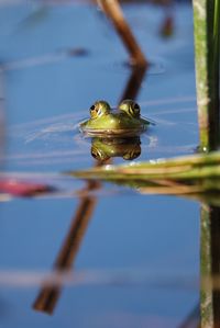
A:
MULTIPOLYGON (((151 61, 136 100, 156 122, 135 160, 193 154, 191 7, 123 11, 151 61), (174 31, 165 38, 167 16, 174 31)), ((113 106, 128 92, 132 71, 111 23, 94 4, 2 1, 0 41, 2 172, 56 188, 2 194, 0 326, 184 327, 199 305, 200 205, 59 174, 96 165, 78 123, 96 100, 113 106), (53 268, 73 271, 54 276, 53 268)))

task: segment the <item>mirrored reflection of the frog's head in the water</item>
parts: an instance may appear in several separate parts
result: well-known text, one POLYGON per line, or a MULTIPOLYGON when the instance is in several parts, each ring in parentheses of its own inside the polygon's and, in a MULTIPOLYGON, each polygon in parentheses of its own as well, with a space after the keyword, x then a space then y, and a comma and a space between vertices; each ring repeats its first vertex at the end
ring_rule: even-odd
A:
POLYGON ((112 157, 132 160, 141 155, 140 137, 129 138, 92 138, 91 155, 99 161, 112 157))

